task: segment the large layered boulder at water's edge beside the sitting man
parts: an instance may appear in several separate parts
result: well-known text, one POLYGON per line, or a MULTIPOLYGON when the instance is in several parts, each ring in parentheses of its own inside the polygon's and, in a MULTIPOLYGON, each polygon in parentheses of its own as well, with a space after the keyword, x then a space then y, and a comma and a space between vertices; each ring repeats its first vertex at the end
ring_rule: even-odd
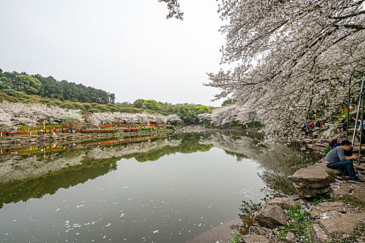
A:
POLYGON ((325 162, 320 162, 295 171, 288 176, 300 196, 304 198, 317 197, 327 192, 329 183, 333 180, 334 170, 328 169, 325 162))

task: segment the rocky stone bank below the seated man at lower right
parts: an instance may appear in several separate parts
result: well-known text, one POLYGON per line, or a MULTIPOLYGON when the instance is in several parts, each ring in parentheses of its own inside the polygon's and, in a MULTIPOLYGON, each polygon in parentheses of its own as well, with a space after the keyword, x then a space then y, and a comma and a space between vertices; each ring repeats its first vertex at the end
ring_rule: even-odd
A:
MULTIPOLYGON (((362 179, 364 169, 357 166, 362 179)), ((263 210, 256 212, 250 234, 240 237, 240 242, 271 242, 277 234, 274 228, 293 220, 288 215, 293 206, 310 214, 311 242, 365 242, 365 183, 350 183, 343 171, 328 169, 324 158, 295 171, 288 179, 299 195, 268 201, 263 210)), ((294 233, 286 233, 285 242, 302 242, 294 233)))

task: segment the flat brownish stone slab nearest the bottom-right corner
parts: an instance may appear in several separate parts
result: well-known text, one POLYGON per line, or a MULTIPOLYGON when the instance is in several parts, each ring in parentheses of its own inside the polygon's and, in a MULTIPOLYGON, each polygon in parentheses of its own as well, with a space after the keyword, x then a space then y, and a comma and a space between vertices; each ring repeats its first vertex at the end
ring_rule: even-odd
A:
POLYGON ((329 237, 341 237, 351 235, 362 221, 365 220, 365 212, 340 215, 337 219, 320 219, 318 225, 329 237))

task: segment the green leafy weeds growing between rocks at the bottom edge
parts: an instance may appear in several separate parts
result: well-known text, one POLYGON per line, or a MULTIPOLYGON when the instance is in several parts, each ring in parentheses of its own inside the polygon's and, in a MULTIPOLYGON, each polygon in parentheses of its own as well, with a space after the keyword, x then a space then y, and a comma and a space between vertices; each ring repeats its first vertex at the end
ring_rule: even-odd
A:
POLYGON ((290 207, 288 215, 290 221, 275 228, 275 240, 285 242, 284 239, 288 232, 292 232, 302 242, 311 242, 313 219, 311 219, 309 212, 305 212, 300 206, 293 206, 290 207))

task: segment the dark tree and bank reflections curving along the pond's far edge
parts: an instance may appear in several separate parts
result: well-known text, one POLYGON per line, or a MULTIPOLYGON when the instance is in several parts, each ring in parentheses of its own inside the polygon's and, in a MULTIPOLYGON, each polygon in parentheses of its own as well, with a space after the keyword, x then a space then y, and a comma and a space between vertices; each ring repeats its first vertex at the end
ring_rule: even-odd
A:
MULTIPOLYGON (((213 146, 235 156, 238 161, 244 158, 256 160, 261 168, 259 176, 266 184, 263 190, 267 197, 293 194, 293 185, 286 177, 313 163, 313 159, 293 146, 263 146, 259 143, 262 135, 248 135, 184 133, 54 145, 37 150, 34 147, 32 150, 15 148, 14 153, 0 156, 0 208, 4 203, 40 198, 54 194, 59 188, 72 187, 107 174, 116 169, 116 162, 122 158, 155 161, 173 153, 209 151, 213 146)), ((242 203, 241 217, 261 206, 242 203)))

